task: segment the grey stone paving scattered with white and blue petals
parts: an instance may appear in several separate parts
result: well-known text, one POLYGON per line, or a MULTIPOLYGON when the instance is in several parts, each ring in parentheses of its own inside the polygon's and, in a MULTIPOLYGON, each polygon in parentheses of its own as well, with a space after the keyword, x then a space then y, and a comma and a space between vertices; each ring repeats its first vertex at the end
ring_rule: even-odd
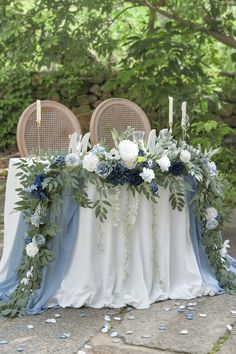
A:
MULTIPOLYGON (((4 182, 0 182, 1 190, 3 186, 4 182)), ((2 193, 0 254, 3 204, 2 193)), ((226 224, 224 235, 230 239, 231 254, 236 257, 236 211, 226 224)), ((155 303, 147 310, 60 308, 31 317, 0 317, 1 339, 6 339, 8 343, 0 344, 0 353, 235 354, 236 296, 169 300, 155 303), (192 303, 193 310, 186 309, 189 302, 192 303), (178 312, 180 305, 186 306, 181 313, 178 312), (193 313, 192 320, 186 318, 188 312, 193 313), (58 314, 60 317, 55 317, 58 314), (108 333, 104 334, 101 329, 105 323, 105 315, 109 315, 111 321, 107 322, 110 327, 108 333), (46 323, 47 319, 55 319, 56 322, 46 323), (33 328, 28 328, 28 325, 33 328), (181 334, 182 330, 187 330, 188 333, 181 334)))

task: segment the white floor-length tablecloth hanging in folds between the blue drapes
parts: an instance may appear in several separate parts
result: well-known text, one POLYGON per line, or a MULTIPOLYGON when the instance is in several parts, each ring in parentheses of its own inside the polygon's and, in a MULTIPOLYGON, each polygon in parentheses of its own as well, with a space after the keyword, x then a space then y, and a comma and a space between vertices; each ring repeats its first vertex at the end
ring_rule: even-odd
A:
MULTIPOLYGON (((15 188, 16 159, 11 159, 6 188, 4 251, 0 281, 4 280, 20 213, 12 214, 18 199, 15 188)), ((88 194, 96 199, 90 185, 88 194)), ((78 236, 71 262, 50 305, 62 307, 147 308, 157 300, 190 299, 208 294, 200 274, 189 234, 187 204, 173 210, 168 190, 160 190, 157 204, 131 197, 125 187, 119 196, 120 221, 113 226, 111 214, 98 223, 93 209, 80 208, 78 236), (132 210, 138 207, 133 231, 128 235, 132 210)), ((19 237, 20 235, 17 235, 19 237)), ((22 237, 24 235, 21 235, 22 237)))

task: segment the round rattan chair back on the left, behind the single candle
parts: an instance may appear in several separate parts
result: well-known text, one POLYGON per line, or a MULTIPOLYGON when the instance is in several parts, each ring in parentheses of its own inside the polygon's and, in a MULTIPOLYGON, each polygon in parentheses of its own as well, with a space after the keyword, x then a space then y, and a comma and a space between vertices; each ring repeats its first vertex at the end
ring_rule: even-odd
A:
POLYGON ((41 101, 41 125, 38 130, 35 102, 26 108, 18 121, 18 149, 22 156, 36 154, 39 145, 41 152, 68 151, 69 135, 73 132, 81 133, 77 117, 66 106, 49 100, 41 101))

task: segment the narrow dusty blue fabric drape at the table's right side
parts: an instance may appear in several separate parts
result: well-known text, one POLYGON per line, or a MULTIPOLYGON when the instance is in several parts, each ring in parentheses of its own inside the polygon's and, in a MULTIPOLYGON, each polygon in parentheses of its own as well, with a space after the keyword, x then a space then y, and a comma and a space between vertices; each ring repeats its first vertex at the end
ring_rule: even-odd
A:
POLYGON ((192 187, 192 191, 187 192, 190 221, 189 232, 198 267, 206 286, 212 289, 214 293, 219 293, 222 292, 223 289, 219 286, 214 270, 208 260, 204 246, 201 242, 201 226, 196 220, 194 208, 191 202, 196 193, 196 180, 192 176, 186 176, 185 181, 192 187))

